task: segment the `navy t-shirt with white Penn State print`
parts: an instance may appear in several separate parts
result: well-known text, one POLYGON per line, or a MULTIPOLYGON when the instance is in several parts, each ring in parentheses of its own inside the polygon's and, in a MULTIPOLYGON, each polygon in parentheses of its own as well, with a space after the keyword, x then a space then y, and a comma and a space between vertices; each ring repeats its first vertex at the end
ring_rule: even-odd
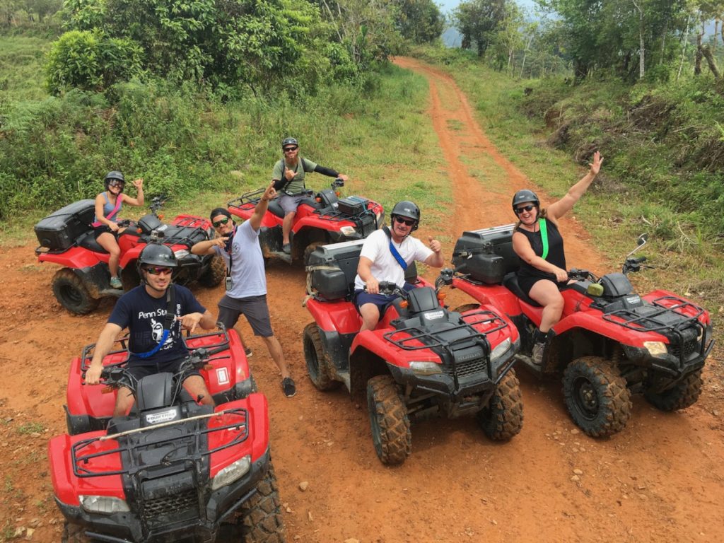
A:
MULTIPOLYGON (((181 285, 171 285, 175 290, 175 315, 182 316, 188 313, 205 313, 201 303, 190 290, 181 285)), ((148 353, 156 348, 164 333, 164 316, 167 311, 166 295, 162 298, 153 298, 146 292, 145 285, 139 285, 126 292, 116 302, 108 321, 121 328, 129 330, 130 357, 129 363, 134 366, 143 364, 167 363, 184 358, 188 355, 181 336, 181 321, 174 321, 169 331, 169 337, 159 351, 149 358, 138 358, 133 353, 148 353)))

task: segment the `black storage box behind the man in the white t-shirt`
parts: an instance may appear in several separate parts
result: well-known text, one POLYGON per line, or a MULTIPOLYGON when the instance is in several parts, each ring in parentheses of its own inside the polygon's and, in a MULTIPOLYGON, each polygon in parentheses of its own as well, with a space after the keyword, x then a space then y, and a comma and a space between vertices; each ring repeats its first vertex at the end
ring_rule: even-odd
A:
MULTIPOLYGON (((342 300, 354 292, 357 265, 364 240, 321 245, 312 251, 307 264, 308 294, 321 300, 342 300)), ((415 283, 417 266, 405 270, 405 281, 415 283)))

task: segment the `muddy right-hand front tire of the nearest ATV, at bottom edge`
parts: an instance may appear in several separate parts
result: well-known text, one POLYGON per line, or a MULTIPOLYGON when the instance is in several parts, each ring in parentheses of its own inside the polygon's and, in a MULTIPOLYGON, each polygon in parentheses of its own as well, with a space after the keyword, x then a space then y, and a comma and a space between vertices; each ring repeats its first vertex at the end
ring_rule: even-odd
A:
POLYGON ((282 502, 274 466, 256 485, 256 492, 241 505, 240 527, 245 543, 285 543, 282 502))

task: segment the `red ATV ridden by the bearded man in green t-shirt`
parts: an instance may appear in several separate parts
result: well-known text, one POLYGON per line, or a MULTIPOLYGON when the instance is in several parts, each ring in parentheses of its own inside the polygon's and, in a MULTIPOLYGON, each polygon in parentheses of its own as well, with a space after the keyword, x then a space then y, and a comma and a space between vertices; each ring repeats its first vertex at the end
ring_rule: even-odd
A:
MULTIPOLYGON (((282 258, 291 264, 292 259, 303 258, 306 264, 311 252, 319 245, 361 240, 382 227, 382 205, 361 196, 340 198, 339 189, 344 185, 344 181, 335 179, 331 188, 316 194, 311 190, 307 191, 292 223, 290 255, 282 251, 284 210, 276 199, 270 201, 259 230, 259 243, 264 259, 282 258)), ((264 189, 259 189, 230 201, 230 213, 249 219, 262 194, 264 189)))

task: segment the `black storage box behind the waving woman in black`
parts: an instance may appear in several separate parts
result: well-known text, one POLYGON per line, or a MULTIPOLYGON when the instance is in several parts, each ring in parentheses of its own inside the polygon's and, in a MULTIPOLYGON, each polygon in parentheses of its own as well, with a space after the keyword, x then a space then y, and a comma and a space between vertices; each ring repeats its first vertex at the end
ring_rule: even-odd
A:
POLYGON ((513 224, 463 232, 452 251, 452 264, 473 281, 495 285, 520 266, 513 251, 513 224))

